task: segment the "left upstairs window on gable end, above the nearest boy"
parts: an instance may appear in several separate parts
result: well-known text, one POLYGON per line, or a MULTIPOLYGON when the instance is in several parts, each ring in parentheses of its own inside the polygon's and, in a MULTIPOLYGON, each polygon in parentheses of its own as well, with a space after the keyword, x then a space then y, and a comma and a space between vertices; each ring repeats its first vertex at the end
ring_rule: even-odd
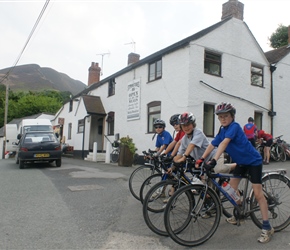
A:
POLYGON ((222 57, 219 54, 205 51, 204 73, 221 76, 222 57))

